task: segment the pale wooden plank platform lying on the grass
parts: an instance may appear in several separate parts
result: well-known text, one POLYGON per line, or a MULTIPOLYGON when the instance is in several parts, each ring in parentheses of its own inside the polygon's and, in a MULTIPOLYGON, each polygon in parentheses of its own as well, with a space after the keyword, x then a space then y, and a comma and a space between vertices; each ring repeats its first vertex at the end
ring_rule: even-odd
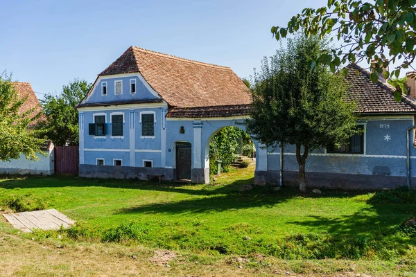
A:
POLYGON ((13 227, 26 233, 32 233, 33 229, 58 230, 61 226, 68 229, 76 222, 54 208, 33 212, 5 213, 3 216, 13 227))

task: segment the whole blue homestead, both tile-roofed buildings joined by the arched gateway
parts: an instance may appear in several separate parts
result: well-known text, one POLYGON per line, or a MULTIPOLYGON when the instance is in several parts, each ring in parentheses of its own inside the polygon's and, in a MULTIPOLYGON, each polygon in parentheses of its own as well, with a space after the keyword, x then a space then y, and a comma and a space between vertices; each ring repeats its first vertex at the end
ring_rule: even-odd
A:
MULTIPOLYGON (((408 84, 415 87, 415 75, 408 84)), ((406 130, 415 123, 415 89, 395 102, 383 78, 377 84, 361 67, 349 65, 348 95, 358 103, 362 135, 340 149, 313 151, 306 162, 309 185, 340 188, 406 186, 406 130), (413 91, 413 92, 412 92, 413 91), (413 94, 412 94, 413 93, 413 94)), ((80 176, 190 179, 209 182, 209 142, 220 129, 244 129, 251 97, 225 66, 130 47, 98 74, 78 105, 80 176)), ((413 133, 412 133, 412 140, 413 133)), ((292 145, 257 150, 255 184, 295 184, 298 166, 292 145)), ((412 176, 416 153, 412 147, 412 176)))

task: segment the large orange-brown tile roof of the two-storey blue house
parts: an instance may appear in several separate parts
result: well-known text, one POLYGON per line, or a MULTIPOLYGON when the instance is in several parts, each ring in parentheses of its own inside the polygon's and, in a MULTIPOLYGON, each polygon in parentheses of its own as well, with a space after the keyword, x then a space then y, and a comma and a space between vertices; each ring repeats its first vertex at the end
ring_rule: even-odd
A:
POLYGON ((250 105, 250 91, 225 66, 131 46, 98 76, 139 72, 171 107, 250 105))

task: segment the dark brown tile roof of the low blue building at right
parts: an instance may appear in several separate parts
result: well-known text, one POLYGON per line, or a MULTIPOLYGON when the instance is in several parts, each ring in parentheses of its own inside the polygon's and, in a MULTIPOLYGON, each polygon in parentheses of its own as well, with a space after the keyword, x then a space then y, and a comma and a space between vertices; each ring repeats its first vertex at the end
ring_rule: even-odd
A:
POLYGON ((357 64, 347 66, 346 76, 348 88, 347 97, 357 103, 360 114, 416 114, 416 102, 408 96, 402 96, 396 102, 393 93, 395 88, 380 80, 374 84, 370 80, 370 72, 357 64))

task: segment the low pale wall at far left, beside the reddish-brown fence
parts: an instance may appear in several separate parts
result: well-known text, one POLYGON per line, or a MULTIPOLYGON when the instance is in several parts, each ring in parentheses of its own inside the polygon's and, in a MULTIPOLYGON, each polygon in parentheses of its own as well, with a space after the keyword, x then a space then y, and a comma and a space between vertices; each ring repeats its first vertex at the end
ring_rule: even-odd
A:
POLYGON ((53 175, 55 172, 55 161, 53 145, 51 149, 46 152, 46 157, 37 154, 39 161, 29 161, 24 154, 21 154, 19 159, 12 161, 0 161, 0 174, 34 174, 34 175, 53 175))

